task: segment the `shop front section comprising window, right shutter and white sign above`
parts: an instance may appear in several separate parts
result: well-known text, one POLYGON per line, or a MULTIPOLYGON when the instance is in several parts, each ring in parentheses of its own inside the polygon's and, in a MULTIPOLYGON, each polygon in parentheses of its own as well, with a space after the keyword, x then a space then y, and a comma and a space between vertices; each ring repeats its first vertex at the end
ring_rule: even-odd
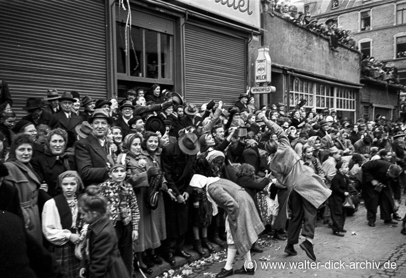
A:
POLYGON ((259 7, 250 6, 248 15, 215 2, 202 14, 201 3, 173 3, 130 2, 130 11, 112 6, 114 90, 124 98, 129 89, 159 84, 187 102, 201 105, 214 99, 232 106, 247 89, 248 44, 260 26, 259 7), (238 13, 246 17, 239 19, 238 13), (233 21, 238 19, 240 23, 233 21))

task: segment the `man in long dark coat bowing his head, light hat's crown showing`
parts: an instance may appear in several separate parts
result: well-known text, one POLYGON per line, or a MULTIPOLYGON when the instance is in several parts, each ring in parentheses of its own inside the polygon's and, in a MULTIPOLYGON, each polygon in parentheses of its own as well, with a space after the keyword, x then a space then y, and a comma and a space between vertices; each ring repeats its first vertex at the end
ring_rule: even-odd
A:
POLYGON ((164 195, 166 213, 166 240, 162 244, 164 258, 175 264, 173 252, 185 258, 191 255, 183 250, 185 233, 188 229, 190 180, 194 174, 196 154, 200 150, 197 136, 186 133, 176 143, 167 145, 161 155, 162 170, 177 202, 164 195))

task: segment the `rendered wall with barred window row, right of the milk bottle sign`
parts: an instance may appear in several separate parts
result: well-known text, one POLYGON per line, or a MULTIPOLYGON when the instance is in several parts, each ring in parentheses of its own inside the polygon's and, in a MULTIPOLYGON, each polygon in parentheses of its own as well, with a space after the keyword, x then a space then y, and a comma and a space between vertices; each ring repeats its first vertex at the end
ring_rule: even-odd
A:
POLYGON ((340 117, 359 117, 359 52, 344 46, 334 52, 328 39, 277 13, 262 13, 262 22, 276 87, 269 104, 284 102, 289 110, 304 99, 307 110, 334 108, 340 117))

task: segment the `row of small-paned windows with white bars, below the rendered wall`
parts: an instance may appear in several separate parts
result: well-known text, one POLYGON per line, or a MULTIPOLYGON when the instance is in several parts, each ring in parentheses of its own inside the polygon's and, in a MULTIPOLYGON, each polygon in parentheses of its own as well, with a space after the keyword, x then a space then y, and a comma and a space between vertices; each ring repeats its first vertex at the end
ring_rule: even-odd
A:
POLYGON ((307 100, 307 108, 336 108, 355 111, 355 91, 312 81, 290 78, 289 105, 295 106, 300 99, 307 100))

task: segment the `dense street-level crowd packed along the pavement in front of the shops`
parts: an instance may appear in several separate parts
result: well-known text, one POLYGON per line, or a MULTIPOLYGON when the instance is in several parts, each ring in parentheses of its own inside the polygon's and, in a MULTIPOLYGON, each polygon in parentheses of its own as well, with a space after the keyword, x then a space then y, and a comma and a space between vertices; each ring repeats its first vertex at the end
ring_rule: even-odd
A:
POLYGON ((221 100, 198 107, 157 84, 128 90, 121 102, 48 90, 28 98, 17 121, 10 100, 0 118, 0 272, 152 273, 162 258, 191 257, 189 235, 201 256, 228 245, 217 277, 253 274, 261 233, 287 240, 291 256, 301 233, 300 248, 316 260, 316 222, 344 236, 361 197, 367 225, 379 206, 384 224, 402 220, 406 234, 396 213, 403 124, 354 122, 304 104, 258 109, 241 94, 228 110, 221 100), (233 270, 236 252, 248 264, 233 270))

